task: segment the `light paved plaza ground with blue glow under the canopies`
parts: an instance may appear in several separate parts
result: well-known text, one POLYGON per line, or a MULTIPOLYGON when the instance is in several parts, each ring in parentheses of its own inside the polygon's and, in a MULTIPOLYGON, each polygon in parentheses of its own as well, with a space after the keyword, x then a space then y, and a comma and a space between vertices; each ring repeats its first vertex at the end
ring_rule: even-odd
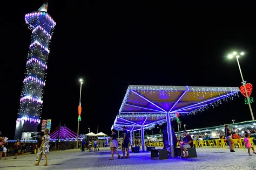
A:
MULTIPOLYGON (((121 153, 120 150, 118 150, 121 153)), ((81 152, 78 150, 52 151, 48 166, 36 163, 35 154, 26 154, 0 161, 0 169, 256 169, 256 155, 248 156, 247 150, 228 148, 197 148, 197 158, 152 159, 150 152, 131 153, 130 159, 109 160, 110 151, 100 148, 99 152, 81 152)))

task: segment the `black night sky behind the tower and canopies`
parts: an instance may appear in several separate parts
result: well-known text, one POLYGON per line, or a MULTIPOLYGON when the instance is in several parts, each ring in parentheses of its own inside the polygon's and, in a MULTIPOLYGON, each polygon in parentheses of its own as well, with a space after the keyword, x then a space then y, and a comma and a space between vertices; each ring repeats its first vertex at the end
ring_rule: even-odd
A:
MULTIPOLYGON (((9 138, 15 133, 31 38, 24 16, 43 3, 1 2, 0 131, 9 138)), ((52 129, 62 122, 77 131, 80 77, 85 81, 80 133, 88 128, 96 133, 99 126, 99 132, 108 134, 130 84, 240 87, 237 61, 226 58, 234 50, 246 53, 240 58, 242 72, 247 82, 256 84, 255 12, 254 4, 233 1, 50 0, 48 13, 56 27, 42 119, 52 119, 52 129)), ((193 129, 251 120, 244 98, 180 117, 181 125, 193 129)))

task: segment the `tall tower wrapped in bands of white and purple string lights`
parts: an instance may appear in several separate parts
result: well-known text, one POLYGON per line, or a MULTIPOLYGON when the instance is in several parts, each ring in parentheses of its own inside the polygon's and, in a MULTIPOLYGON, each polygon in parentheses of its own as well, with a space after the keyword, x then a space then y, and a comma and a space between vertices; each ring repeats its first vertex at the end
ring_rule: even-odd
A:
MULTIPOLYGON (((16 123, 15 139, 22 137, 23 132, 37 132, 40 123, 43 87, 45 86, 45 70, 49 54, 49 44, 56 23, 47 13, 46 1, 38 11, 25 15, 25 22, 32 31, 29 46, 26 73, 16 123)), ((26 138, 30 137, 27 136, 26 138)))

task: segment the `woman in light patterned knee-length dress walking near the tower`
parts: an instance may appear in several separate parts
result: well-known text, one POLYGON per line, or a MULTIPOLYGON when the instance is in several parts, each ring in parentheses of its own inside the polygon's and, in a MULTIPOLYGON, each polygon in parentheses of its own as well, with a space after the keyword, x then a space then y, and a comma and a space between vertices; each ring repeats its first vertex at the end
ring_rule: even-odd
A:
POLYGON ((45 164, 44 164, 44 166, 48 165, 49 141, 50 141, 50 135, 48 133, 49 133, 49 130, 45 129, 44 136, 42 138, 42 144, 39 148, 40 153, 39 153, 38 162, 35 164, 35 166, 39 165, 43 154, 45 155, 45 164))

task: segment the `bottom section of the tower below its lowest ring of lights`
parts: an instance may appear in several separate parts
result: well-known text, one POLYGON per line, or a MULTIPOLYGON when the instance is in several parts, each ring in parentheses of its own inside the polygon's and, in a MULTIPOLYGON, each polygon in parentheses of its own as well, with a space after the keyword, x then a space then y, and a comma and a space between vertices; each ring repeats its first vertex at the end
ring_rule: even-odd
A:
POLYGON ((37 126, 37 123, 31 123, 29 121, 17 122, 14 139, 21 139, 22 141, 32 137, 37 132, 37 126))

